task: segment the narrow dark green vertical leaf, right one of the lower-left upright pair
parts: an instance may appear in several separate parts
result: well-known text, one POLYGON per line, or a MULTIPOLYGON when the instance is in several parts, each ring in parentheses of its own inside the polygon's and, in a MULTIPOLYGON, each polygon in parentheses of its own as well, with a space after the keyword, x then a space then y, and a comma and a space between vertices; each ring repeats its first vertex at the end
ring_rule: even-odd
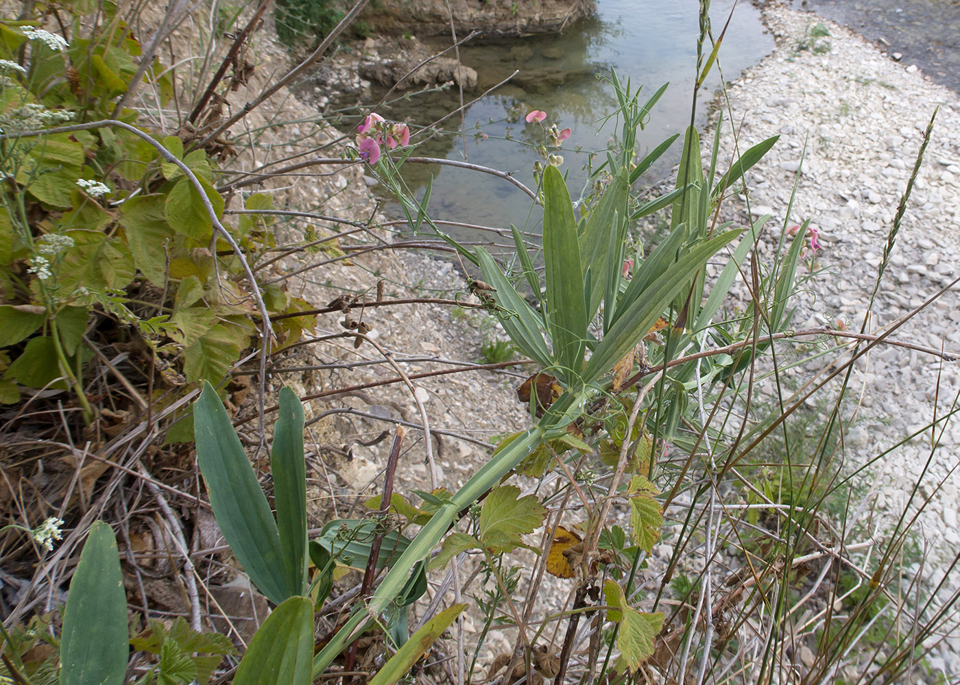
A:
POLYGON ((276 527, 280 533, 287 583, 306 590, 306 461, 303 459, 303 406, 297 393, 280 389, 280 409, 270 455, 274 477, 276 527))

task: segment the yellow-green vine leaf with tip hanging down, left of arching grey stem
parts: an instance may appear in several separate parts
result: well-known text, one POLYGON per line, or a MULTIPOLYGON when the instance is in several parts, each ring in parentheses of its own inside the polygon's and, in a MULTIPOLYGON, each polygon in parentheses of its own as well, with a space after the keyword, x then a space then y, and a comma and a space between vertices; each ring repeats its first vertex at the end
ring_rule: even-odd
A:
POLYGON ((156 286, 163 286, 174 231, 167 224, 163 195, 132 198, 121 205, 120 224, 127 235, 133 263, 156 286))

